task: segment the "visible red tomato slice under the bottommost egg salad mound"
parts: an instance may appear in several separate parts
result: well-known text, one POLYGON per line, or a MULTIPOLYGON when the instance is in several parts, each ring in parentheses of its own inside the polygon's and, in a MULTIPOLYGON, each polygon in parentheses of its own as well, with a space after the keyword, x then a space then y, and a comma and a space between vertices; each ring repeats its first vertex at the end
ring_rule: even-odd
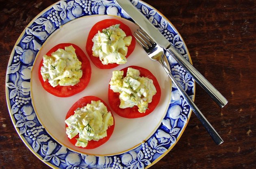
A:
MULTIPOLYGON (((86 106, 87 104, 91 104, 92 100, 93 101, 100 100, 107 107, 108 111, 110 111, 108 105, 102 99, 100 99, 98 97, 95 97, 95 96, 85 96, 85 97, 82 97, 81 99, 79 99, 78 101, 76 101, 75 104, 73 104, 73 106, 67 112, 67 115, 66 115, 65 119, 67 119, 70 116, 72 116, 75 113, 74 111, 77 108, 82 108, 82 107, 86 106)), ((111 112, 111 114, 112 114, 112 112, 111 112)), ((112 116, 113 116, 113 114, 112 114, 112 116)), ((114 118, 114 116, 113 116, 113 118, 114 118)), ((66 127, 67 127, 67 125, 66 125, 66 127)), ((115 119, 114 119, 114 125, 108 127, 108 129, 107 129, 107 136, 106 137, 104 137, 104 138, 102 138, 102 139, 100 139, 98 141, 91 140, 91 141, 88 142, 86 147, 80 147, 80 148, 93 149, 93 148, 97 148, 97 147, 101 146, 102 144, 106 143, 108 141, 108 139, 111 137, 111 135, 112 135, 112 133, 114 131, 114 128, 115 128, 115 119)), ((74 137, 72 139, 69 139, 69 138, 68 139, 69 139, 69 141, 72 144, 75 145, 76 141, 77 141, 76 138, 78 138, 78 135, 76 135, 76 137, 74 137)))

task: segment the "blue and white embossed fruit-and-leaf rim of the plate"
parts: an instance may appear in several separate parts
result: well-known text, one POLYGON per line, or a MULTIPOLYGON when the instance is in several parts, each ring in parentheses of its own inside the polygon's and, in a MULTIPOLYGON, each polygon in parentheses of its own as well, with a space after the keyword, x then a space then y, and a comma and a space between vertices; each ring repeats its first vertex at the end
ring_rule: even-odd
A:
MULTIPOLYGON (((148 20, 187 59, 188 51, 175 28, 153 7, 139 0, 130 0, 148 20)), ((171 150, 182 134, 191 114, 187 102, 175 86, 166 116, 157 131, 137 148, 113 156, 80 154, 56 142, 39 123, 30 97, 30 74, 35 56, 46 39, 61 25, 87 15, 130 17, 113 0, 61 0, 26 27, 10 57, 7 68, 7 102, 9 112, 20 137, 39 158, 61 169, 120 168, 143 169, 171 150)), ((194 81, 167 54, 171 71, 188 95, 194 97, 194 81)))

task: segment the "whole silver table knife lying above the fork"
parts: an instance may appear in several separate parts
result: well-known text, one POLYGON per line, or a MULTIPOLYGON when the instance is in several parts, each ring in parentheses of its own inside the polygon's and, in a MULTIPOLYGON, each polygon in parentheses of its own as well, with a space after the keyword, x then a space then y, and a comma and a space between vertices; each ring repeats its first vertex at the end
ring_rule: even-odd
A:
POLYGON ((195 79, 210 97, 223 108, 227 99, 198 72, 187 59, 159 32, 152 23, 129 0, 115 0, 116 3, 145 31, 159 46, 164 48, 195 79))

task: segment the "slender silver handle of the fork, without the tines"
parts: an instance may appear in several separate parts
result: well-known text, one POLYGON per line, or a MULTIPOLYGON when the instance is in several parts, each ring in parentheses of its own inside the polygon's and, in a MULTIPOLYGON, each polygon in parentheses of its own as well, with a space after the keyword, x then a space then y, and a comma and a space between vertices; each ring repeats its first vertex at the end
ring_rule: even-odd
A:
POLYGON ((193 110, 193 112, 195 113, 195 115, 197 116, 197 118, 199 118, 200 122, 203 124, 203 126, 206 128, 206 131, 209 133, 209 135, 213 138, 214 142, 217 145, 220 145, 221 143, 223 143, 223 140, 221 139, 221 137, 219 136, 219 134, 217 133, 217 131, 215 131, 215 129, 213 128, 213 126, 208 122, 208 120, 204 117, 204 115, 202 114, 202 112, 197 108, 197 106, 195 105, 195 103, 191 100, 191 98, 187 95, 187 93, 184 91, 184 89, 182 88, 182 86, 180 85, 180 83, 174 78, 174 76, 171 74, 171 72, 169 71, 169 69, 167 68, 163 57, 166 58, 165 55, 162 56, 161 61, 159 61, 162 65, 163 68, 165 69, 165 72, 168 74, 169 78, 171 78, 171 81, 174 83, 174 85, 177 87, 178 91, 181 93, 181 95, 184 97, 184 99, 187 101, 187 103, 189 104, 189 106, 191 107, 191 109, 193 110))

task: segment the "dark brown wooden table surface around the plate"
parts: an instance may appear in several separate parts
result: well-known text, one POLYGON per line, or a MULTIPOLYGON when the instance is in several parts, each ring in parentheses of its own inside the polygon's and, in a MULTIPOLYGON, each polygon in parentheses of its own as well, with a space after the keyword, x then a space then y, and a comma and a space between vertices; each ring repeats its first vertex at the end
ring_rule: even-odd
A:
MULTIPOLYGON (((0 0, 0 166, 47 169, 20 139, 5 99, 5 76, 13 46, 26 25, 56 0, 0 0)), ((256 1, 145 0, 173 23, 193 65, 227 99, 219 108, 196 85, 195 104, 224 140, 216 146, 191 115, 174 148, 152 169, 256 168, 256 1)))

